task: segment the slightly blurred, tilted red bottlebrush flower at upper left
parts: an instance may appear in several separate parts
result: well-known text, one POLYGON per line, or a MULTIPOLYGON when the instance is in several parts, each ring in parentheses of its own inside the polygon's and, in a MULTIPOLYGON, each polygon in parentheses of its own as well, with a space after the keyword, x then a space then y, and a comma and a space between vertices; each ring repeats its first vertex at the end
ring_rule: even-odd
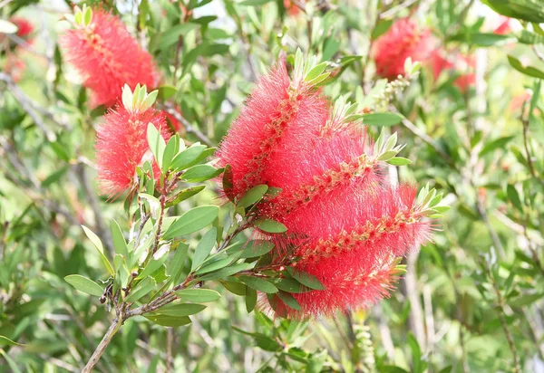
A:
POLYGON ((91 9, 76 12, 77 28, 64 33, 61 43, 67 60, 82 74, 83 85, 92 91, 92 105, 114 105, 124 84, 131 89, 139 83, 156 87, 160 75, 151 54, 141 49, 121 20, 95 9, 85 21, 86 12, 91 9))

